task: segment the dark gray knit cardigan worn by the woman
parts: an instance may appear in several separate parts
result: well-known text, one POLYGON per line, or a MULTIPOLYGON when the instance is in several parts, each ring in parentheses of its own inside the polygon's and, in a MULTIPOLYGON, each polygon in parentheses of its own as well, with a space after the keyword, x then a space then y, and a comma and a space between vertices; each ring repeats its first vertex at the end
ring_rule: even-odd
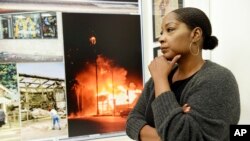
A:
POLYGON ((182 91, 180 103, 172 91, 164 92, 152 102, 152 79, 128 116, 127 135, 140 140, 146 122, 146 108, 151 105, 155 128, 162 141, 229 141, 230 124, 240 117, 240 99, 235 77, 228 69, 206 61, 182 91), (183 113, 189 104, 191 111, 183 113))

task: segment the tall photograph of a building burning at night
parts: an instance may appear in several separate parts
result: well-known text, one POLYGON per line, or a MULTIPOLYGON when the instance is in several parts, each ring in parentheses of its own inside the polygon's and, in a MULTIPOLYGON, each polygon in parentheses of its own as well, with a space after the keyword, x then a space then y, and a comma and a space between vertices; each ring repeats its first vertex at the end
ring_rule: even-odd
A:
POLYGON ((69 136, 124 131, 143 87, 140 15, 62 20, 69 136))

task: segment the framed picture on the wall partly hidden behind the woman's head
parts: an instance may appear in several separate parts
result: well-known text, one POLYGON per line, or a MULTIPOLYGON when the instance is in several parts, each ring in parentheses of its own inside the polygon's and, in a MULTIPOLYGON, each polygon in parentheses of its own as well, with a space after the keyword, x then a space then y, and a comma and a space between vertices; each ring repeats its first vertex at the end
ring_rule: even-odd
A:
POLYGON ((163 17, 174 9, 183 7, 183 0, 153 0, 153 40, 158 41, 163 17))

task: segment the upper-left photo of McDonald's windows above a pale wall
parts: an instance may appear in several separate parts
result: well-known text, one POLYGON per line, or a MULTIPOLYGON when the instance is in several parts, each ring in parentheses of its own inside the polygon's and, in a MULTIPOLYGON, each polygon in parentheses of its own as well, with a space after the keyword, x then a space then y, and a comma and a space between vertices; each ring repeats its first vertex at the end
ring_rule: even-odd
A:
POLYGON ((59 12, 0 11, 0 62, 63 62, 62 24, 57 19, 59 12))

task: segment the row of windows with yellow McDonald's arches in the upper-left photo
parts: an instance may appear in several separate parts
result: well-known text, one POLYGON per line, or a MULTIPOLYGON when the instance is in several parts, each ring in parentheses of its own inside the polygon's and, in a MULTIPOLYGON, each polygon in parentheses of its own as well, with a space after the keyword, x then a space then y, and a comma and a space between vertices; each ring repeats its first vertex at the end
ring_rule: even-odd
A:
POLYGON ((8 13, 0 15, 0 21, 0 39, 57 38, 55 12, 8 13))

